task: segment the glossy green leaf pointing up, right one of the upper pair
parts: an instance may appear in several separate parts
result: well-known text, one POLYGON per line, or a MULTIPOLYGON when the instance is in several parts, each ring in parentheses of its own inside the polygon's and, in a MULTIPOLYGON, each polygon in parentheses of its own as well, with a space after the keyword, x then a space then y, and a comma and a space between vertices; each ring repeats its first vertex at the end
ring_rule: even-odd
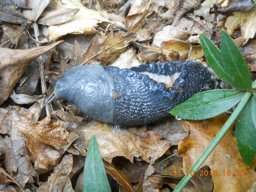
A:
POLYGON ((252 81, 247 63, 235 42, 223 29, 220 48, 224 68, 231 76, 228 84, 240 90, 251 91, 252 81))

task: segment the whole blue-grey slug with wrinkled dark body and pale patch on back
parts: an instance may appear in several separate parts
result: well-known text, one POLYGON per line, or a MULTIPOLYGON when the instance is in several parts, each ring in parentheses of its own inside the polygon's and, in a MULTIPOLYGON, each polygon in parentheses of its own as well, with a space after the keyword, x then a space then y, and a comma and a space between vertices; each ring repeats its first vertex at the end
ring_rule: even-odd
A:
POLYGON ((128 127, 169 116, 172 108, 204 87, 213 89, 214 77, 200 61, 187 60, 130 69, 88 64, 70 68, 52 82, 56 99, 75 104, 98 121, 128 127))

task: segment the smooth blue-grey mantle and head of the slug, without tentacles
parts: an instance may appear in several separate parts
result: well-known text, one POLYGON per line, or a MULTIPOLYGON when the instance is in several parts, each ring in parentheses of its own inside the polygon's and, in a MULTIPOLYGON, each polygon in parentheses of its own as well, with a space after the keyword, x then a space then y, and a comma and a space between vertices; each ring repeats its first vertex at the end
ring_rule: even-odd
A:
POLYGON ((114 122, 115 89, 113 77, 99 64, 69 69, 55 84, 56 99, 75 104, 87 116, 106 123, 114 122))

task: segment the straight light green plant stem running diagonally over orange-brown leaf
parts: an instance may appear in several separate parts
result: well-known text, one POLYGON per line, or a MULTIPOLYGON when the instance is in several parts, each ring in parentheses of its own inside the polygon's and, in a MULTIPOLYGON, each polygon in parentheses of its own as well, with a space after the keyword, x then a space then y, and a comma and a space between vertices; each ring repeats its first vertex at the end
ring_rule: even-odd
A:
MULTIPOLYGON (((252 87, 254 88, 256 85, 256 81, 252 84, 252 87)), ((223 127, 220 129, 218 134, 214 137, 212 142, 209 144, 209 146, 204 150, 203 154, 200 156, 200 158, 196 161, 196 163, 190 168, 189 170, 189 176, 185 175, 183 179, 180 181, 180 183, 177 185, 177 187, 174 189, 174 192, 181 191, 181 189, 186 185, 188 180, 192 177, 190 172, 193 170, 196 172, 199 167, 204 163, 205 159, 210 155, 212 150, 216 147, 216 145, 220 142, 222 137, 225 135, 225 133, 228 131, 229 127, 235 122, 237 116, 241 112, 241 110, 244 108, 246 103, 251 99, 252 92, 245 92, 242 100, 237 105, 235 111, 232 113, 232 115, 228 118, 227 122, 223 125, 223 127)))

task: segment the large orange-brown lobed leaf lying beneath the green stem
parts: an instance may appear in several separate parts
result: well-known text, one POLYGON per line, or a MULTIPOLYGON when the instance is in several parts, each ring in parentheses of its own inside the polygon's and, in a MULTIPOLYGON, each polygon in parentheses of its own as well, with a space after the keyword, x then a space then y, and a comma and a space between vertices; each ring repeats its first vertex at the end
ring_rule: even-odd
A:
MULTIPOLYGON (((187 127, 188 136, 180 141, 178 150, 179 154, 184 154, 183 170, 185 174, 188 174, 187 170, 195 164, 228 117, 220 115, 203 121, 183 121, 187 127)), ((254 159, 249 167, 244 164, 238 152, 236 137, 232 135, 231 129, 220 140, 201 167, 205 165, 209 166, 212 171, 213 191, 230 191, 230 189, 232 191, 247 191, 256 179, 254 171, 256 160, 254 159), (228 176, 228 170, 230 170, 230 176, 228 176), (213 175, 214 171, 217 172, 217 175, 213 175), (236 187, 234 188, 234 186, 236 187)), ((196 170, 194 171, 196 172, 196 170)))

